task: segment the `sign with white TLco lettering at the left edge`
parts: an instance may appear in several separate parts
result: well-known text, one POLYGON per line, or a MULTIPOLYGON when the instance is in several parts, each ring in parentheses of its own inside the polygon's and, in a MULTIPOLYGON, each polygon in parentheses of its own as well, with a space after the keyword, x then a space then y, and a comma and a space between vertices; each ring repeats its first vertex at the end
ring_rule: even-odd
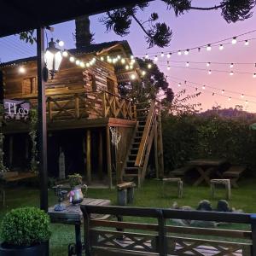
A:
POLYGON ((30 110, 29 102, 3 100, 5 119, 27 119, 30 110))

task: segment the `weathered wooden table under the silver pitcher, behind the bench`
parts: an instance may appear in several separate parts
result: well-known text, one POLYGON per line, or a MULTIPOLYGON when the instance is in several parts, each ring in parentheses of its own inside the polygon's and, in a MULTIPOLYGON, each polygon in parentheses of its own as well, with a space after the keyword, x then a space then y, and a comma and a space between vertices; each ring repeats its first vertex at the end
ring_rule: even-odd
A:
MULTIPOLYGON (((81 228, 80 225, 83 222, 83 213, 80 210, 80 205, 92 205, 92 206, 109 206, 111 204, 110 200, 105 199, 94 199, 94 198, 84 198, 79 205, 73 206, 69 201, 62 202, 66 205, 66 209, 61 212, 56 212, 53 207, 49 207, 48 213, 49 218, 52 223, 61 224, 73 224, 75 226, 75 252, 78 256, 82 255, 82 241, 81 241, 81 228)), ((92 215, 92 218, 101 219, 107 218, 108 216, 102 216, 99 214, 92 215)), ((70 246, 69 246, 70 247, 70 246)))

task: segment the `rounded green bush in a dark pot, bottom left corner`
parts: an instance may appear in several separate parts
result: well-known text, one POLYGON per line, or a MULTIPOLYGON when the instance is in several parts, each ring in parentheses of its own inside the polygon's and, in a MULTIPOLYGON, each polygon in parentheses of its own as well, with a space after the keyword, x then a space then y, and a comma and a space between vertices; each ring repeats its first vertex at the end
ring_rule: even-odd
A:
POLYGON ((1 223, 1 256, 46 256, 49 254, 49 216, 36 207, 8 212, 1 223))

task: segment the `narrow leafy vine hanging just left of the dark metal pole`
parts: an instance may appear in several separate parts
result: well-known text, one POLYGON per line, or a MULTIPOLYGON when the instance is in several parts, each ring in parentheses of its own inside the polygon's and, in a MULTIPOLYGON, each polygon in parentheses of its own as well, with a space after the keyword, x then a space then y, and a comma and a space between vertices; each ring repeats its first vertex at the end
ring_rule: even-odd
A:
POLYGON ((37 130, 38 130, 38 110, 30 110, 29 136, 32 141, 32 157, 30 161, 31 172, 38 172, 38 148, 37 148, 37 130))

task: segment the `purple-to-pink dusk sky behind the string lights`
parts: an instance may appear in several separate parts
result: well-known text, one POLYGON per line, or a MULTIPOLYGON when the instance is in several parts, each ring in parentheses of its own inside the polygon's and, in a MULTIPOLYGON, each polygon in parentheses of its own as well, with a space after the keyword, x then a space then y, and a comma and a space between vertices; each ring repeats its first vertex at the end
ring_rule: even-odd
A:
MULTIPOLYGON (((206 1, 193 1, 195 6, 204 6, 206 1)), ((218 1, 207 1, 207 4, 214 5, 218 1)), ((254 8, 254 11, 256 9, 254 8)), ((224 38, 232 38, 239 34, 253 31, 256 29, 256 13, 252 18, 244 21, 236 22, 235 24, 228 24, 220 15, 220 11, 190 11, 182 16, 175 17, 173 10, 166 10, 166 5, 161 1, 154 1, 149 4, 143 14, 139 15, 141 20, 147 20, 148 16, 153 12, 157 12, 160 15, 160 21, 165 21, 168 26, 172 28, 173 37, 169 47, 165 49, 159 49, 154 47, 147 49, 144 34, 142 30, 133 22, 131 26, 131 33, 125 38, 116 36, 113 32, 105 32, 106 28, 98 21, 102 15, 94 15, 90 17, 91 21, 91 32, 95 33, 95 43, 108 42, 113 40, 127 40, 131 45, 131 49, 136 56, 143 56, 148 53, 156 52, 168 52, 178 49, 189 49, 195 46, 210 44, 224 38)), ((73 32, 74 21, 61 23, 55 25, 55 32, 49 38, 54 37, 55 39, 60 38, 65 42, 67 49, 74 48, 73 32)), ((237 44, 224 45, 223 50, 219 50, 218 47, 212 47, 211 51, 201 49, 201 52, 197 50, 189 51, 189 55, 172 55, 170 59, 170 65, 176 66, 171 67, 171 70, 166 70, 166 61, 159 61, 158 65, 160 69, 168 76, 170 86, 172 90, 177 92, 182 90, 184 85, 178 87, 178 82, 184 80, 188 81, 186 86, 187 93, 195 93, 195 87, 197 91, 202 90, 202 85, 211 86, 218 88, 215 90, 207 88, 203 90, 201 96, 199 96, 195 102, 201 102, 202 108, 212 108, 212 106, 220 105, 222 108, 235 108, 236 105, 243 105, 247 111, 256 112, 256 78, 253 79, 253 73, 256 73, 256 32, 247 34, 241 38, 237 38, 238 41, 243 42, 237 44), (244 40, 254 38, 249 41, 249 45, 244 45, 244 40), (172 62, 173 61, 173 62, 172 62), (183 62, 175 62, 183 61, 183 62), (186 67, 186 61, 189 61, 189 67, 201 68, 206 70, 195 70, 186 67), (193 61, 204 62, 204 63, 192 63, 193 61), (207 67, 207 62, 225 62, 229 64, 211 64, 211 67, 207 67), (234 67, 230 68, 230 63, 250 63, 250 64, 235 64, 234 67), (212 74, 208 74, 208 70, 212 70, 212 74), (228 71, 214 72, 213 70, 228 71), (230 76, 230 70, 234 71, 234 75, 230 76), (236 73, 241 72, 241 73, 236 73), (244 74, 247 73, 247 74, 244 74), (173 79, 175 78, 175 79, 173 79), (177 82, 171 81, 175 80, 177 82), (191 84, 190 82, 197 83, 191 84), (212 92, 219 93, 221 90, 225 90, 224 96, 214 95, 212 92), (228 90, 232 92, 228 92, 228 90), (237 93, 233 93, 237 92, 237 93), (241 94, 250 95, 241 98, 241 94), (231 100, 229 101, 229 96, 231 100), (236 99, 237 98, 237 99, 236 99), (242 101, 241 101, 242 100, 242 101), (245 101, 248 104, 245 104, 245 101)), ((224 42, 230 43, 231 40, 224 42)), ((7 38, 0 38, 0 61, 11 61, 29 55, 35 55, 35 46, 30 44, 21 43, 18 37, 12 36, 7 38)), ((153 54, 155 55, 155 54, 153 54)), ((160 60, 166 60, 166 57, 160 60)))

